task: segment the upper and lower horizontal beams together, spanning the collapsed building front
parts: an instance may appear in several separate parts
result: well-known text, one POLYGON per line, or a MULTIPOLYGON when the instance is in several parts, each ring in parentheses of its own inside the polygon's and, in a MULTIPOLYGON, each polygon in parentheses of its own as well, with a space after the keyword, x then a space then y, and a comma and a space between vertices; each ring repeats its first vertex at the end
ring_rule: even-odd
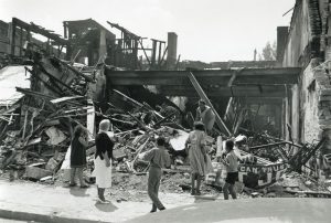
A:
MULTIPOLYGON (((290 85, 298 83, 300 67, 192 71, 210 97, 285 98, 290 85), (235 75, 235 78, 233 76, 235 75), (228 83, 232 81, 232 84, 228 83)), ((188 74, 190 71, 110 71, 108 87, 157 85, 167 96, 197 96, 188 74)))

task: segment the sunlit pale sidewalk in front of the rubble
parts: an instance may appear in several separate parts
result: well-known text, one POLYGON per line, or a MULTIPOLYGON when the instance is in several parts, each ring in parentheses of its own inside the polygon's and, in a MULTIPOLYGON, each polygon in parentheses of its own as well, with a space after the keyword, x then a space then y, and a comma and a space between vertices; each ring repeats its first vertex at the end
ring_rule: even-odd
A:
MULTIPOLYGON (((96 198, 95 185, 81 189, 0 180, 0 217, 61 223, 124 222, 151 209, 149 200, 118 203, 110 198, 110 204, 99 204, 96 198)), ((189 193, 160 193, 160 198, 168 209, 211 200, 196 200, 189 193)))

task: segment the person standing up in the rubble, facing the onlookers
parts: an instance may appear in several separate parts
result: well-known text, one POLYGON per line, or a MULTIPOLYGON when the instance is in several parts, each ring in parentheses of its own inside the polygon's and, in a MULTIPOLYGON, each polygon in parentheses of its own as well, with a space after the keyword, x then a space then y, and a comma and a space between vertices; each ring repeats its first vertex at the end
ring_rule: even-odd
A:
POLYGON ((202 121, 207 134, 210 134, 214 127, 215 114, 213 109, 210 106, 207 106, 203 99, 199 100, 195 121, 202 121))

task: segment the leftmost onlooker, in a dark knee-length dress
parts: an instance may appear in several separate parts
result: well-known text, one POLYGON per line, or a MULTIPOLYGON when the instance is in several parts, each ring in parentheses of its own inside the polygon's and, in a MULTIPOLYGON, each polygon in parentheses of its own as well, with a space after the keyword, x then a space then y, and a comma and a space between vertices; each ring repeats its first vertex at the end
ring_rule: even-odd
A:
POLYGON ((75 176, 78 176, 81 188, 88 188, 84 182, 83 169, 86 167, 86 148, 87 142, 87 130, 77 125, 74 130, 74 137, 71 144, 71 182, 70 187, 75 187, 75 176))

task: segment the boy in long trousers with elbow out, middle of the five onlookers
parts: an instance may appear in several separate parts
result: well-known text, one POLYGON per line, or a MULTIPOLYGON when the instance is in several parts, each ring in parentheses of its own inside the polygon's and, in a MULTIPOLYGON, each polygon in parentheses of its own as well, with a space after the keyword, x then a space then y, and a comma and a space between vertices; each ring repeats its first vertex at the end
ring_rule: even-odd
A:
POLYGON ((162 176, 162 168, 170 168, 170 156, 166 150, 166 138, 157 138, 157 147, 146 152, 142 157, 145 161, 150 162, 148 176, 148 195, 152 201, 151 213, 158 209, 166 210, 162 202, 159 200, 159 188, 162 176))

